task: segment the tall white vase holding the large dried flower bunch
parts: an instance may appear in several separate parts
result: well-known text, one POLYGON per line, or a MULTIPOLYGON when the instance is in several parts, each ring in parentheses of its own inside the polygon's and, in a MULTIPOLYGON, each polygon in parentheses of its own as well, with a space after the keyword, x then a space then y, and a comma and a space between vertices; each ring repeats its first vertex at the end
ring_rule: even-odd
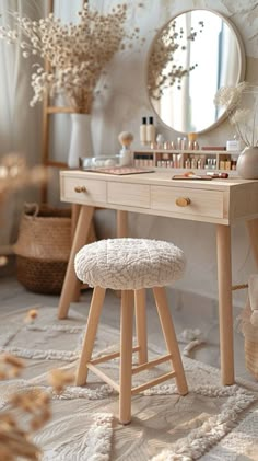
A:
POLYGON ((94 157, 91 131, 91 114, 71 114, 71 138, 68 166, 79 168, 80 157, 94 157))

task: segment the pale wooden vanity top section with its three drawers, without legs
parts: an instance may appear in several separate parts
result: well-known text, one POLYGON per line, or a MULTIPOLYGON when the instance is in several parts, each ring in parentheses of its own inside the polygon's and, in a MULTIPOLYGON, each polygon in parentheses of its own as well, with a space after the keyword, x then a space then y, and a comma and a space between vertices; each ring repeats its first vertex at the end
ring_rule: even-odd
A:
POLYGON ((115 175, 60 172, 60 198, 71 204, 231 224, 258 218, 258 181, 172 180, 174 171, 115 175))

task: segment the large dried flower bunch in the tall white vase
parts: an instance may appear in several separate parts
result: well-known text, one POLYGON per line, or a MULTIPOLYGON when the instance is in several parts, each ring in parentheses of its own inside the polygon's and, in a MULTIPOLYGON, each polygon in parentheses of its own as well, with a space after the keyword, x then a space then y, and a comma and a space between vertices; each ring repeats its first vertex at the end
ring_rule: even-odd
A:
POLYGON ((45 59, 49 64, 48 71, 40 62, 34 65, 31 106, 43 101, 48 92, 51 96, 63 94, 74 112, 91 113, 96 85, 106 65, 118 50, 131 47, 139 38, 139 28, 130 33, 124 30, 126 4, 117 4, 104 15, 85 3, 78 14, 79 23, 63 24, 52 13, 39 21, 14 13, 15 28, 0 27, 0 38, 20 44, 24 58, 33 55, 40 58, 40 62, 45 59))

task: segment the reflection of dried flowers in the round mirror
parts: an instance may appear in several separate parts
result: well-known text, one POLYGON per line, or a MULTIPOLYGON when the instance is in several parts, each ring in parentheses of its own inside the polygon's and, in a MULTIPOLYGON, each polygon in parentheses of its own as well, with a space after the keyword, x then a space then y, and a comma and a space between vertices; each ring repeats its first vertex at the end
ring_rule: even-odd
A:
MULTIPOLYGON (((202 32, 203 21, 199 22, 199 32, 202 32)), ((194 30, 188 35, 181 27, 178 32, 176 20, 169 22, 159 33, 153 42, 148 68, 148 89, 153 100, 159 101, 166 88, 177 84, 177 88, 180 89, 181 79, 189 76, 198 66, 195 64, 184 68, 180 64, 176 64, 178 51, 186 51, 187 43, 194 42, 196 37, 197 32, 194 30)))

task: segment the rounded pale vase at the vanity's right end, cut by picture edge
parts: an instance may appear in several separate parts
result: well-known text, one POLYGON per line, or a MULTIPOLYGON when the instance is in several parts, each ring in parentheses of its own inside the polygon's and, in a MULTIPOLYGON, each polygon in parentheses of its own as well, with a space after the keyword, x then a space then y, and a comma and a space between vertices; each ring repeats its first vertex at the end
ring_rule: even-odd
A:
POLYGON ((236 171, 244 180, 258 180, 258 146, 246 147, 241 152, 236 171))

